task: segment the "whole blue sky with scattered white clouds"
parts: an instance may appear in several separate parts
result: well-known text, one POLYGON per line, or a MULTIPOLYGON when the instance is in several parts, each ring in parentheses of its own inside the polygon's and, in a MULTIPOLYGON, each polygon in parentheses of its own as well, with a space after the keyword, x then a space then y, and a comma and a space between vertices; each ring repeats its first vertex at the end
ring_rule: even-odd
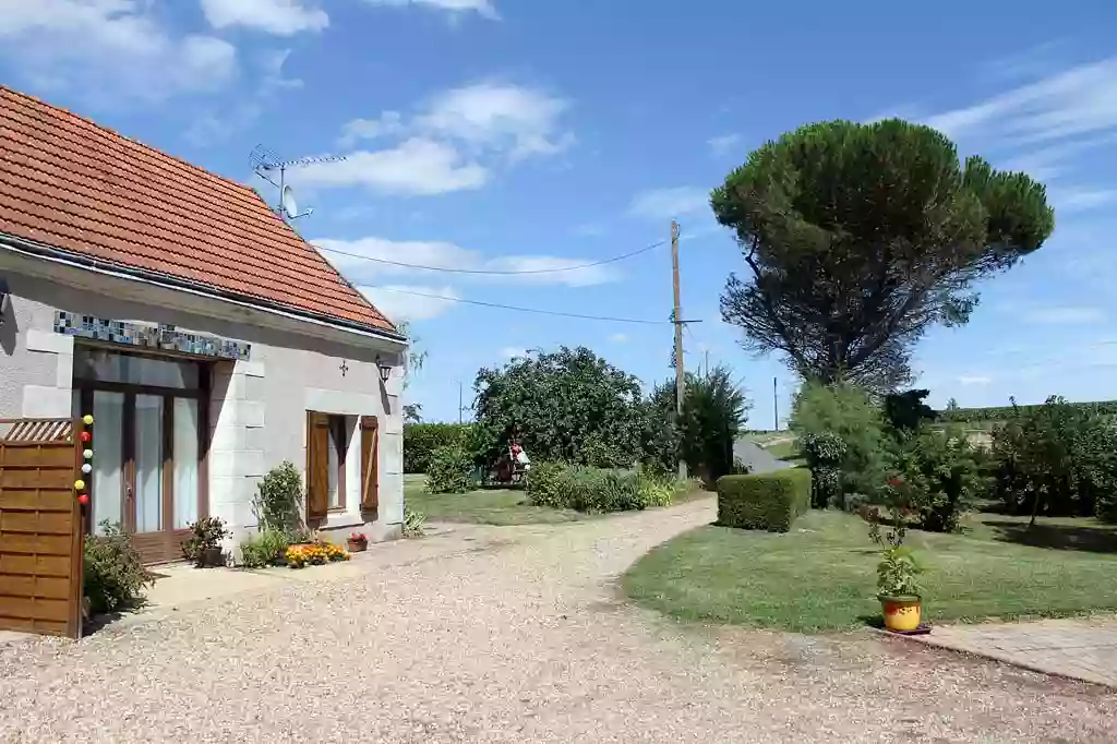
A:
MULTIPOLYGON (((1117 398, 1117 7, 705 0, 0 0, 0 80, 261 188, 248 154, 346 160, 293 174, 298 227, 429 352, 409 394, 456 419, 483 365, 588 345, 647 382, 671 345, 665 247, 682 228, 690 368, 731 365, 771 427, 794 380, 718 319, 741 267, 706 194, 795 126, 898 115, 1043 180, 1049 244, 920 344, 932 402, 1117 398), (400 292, 403 290, 403 292, 400 292), (431 297, 405 294, 407 292, 431 297), (438 297, 661 323, 593 322, 438 297)), ((468 416, 468 414, 467 414, 468 416)))

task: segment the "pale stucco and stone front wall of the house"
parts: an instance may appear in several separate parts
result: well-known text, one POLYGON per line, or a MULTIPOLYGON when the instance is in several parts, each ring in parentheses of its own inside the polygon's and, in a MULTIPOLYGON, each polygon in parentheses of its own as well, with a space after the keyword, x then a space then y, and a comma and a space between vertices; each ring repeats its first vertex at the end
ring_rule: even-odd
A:
POLYGON ((305 479, 307 410, 354 417, 354 427, 360 416, 375 416, 380 421, 379 517, 367 524, 362 521, 360 436, 354 432, 347 457, 346 509, 331 513, 323 531, 338 542, 354 528, 362 528, 370 540, 401 533, 403 368, 399 344, 82 269, 44 269, 29 259, 13 260, 2 248, 0 273, 12 294, 12 309, 0 325, 0 418, 70 414, 75 341, 54 332, 56 309, 173 324, 248 342, 250 360, 218 362, 211 381, 209 512, 229 523, 235 532, 230 542, 255 531, 251 500, 267 470, 290 460, 305 479), (380 379, 378 355, 395 366, 386 384, 380 379))

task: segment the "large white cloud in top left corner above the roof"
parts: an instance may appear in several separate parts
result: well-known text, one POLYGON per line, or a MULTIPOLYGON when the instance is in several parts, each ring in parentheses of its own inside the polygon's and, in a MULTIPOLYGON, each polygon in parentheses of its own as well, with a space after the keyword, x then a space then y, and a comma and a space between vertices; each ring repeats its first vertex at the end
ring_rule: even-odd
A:
POLYGON ((38 86, 101 103, 211 92, 237 74, 232 45, 173 34, 145 0, 0 0, 0 55, 38 86))

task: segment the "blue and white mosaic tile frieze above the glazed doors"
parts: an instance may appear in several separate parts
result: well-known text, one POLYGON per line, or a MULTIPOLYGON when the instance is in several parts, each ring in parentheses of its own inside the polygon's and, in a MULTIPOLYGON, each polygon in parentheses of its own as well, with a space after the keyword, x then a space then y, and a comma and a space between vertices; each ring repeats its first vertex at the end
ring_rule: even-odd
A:
POLYGON ((217 359, 248 361, 251 351, 251 344, 203 333, 179 331, 173 325, 108 321, 65 311, 55 312, 55 333, 217 359))

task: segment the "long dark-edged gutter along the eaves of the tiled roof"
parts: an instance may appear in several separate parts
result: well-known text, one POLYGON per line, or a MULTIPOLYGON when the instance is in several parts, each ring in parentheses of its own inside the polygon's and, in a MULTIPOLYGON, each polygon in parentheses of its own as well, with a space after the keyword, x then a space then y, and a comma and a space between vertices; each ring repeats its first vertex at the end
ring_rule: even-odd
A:
POLYGON ((249 309, 262 311, 265 313, 279 315, 286 318, 303 321, 304 323, 313 323, 315 325, 323 325, 333 328, 338 328, 341 331, 347 331, 350 333, 356 333, 362 336, 369 336, 373 338, 384 338, 386 341, 392 341, 400 344, 408 343, 408 337, 399 332, 376 328, 374 326, 365 325, 363 323, 356 323, 355 321, 334 318, 328 315, 323 315, 321 313, 295 309, 274 301, 260 299, 258 297, 254 297, 251 295, 246 295, 244 293, 238 293, 238 292, 216 289, 200 282, 192 282, 190 279, 172 277, 168 276, 166 274, 161 274, 159 271, 151 271, 147 269, 135 268, 131 266, 122 266, 121 264, 114 261, 106 261, 99 258, 92 258, 89 256, 77 255, 68 250, 61 250, 59 248, 48 246, 46 244, 36 242, 34 240, 27 240, 26 238, 20 238, 9 232, 0 232, 0 246, 7 248, 8 250, 15 254, 30 256, 32 258, 40 258, 42 260, 50 261, 51 264, 83 268, 89 271, 94 271, 95 274, 104 274, 116 278, 124 278, 133 282, 140 282, 142 284, 154 285, 165 289, 175 289, 179 292, 185 292, 187 294, 195 295, 207 299, 217 299, 230 303, 232 305, 247 307, 249 309))

